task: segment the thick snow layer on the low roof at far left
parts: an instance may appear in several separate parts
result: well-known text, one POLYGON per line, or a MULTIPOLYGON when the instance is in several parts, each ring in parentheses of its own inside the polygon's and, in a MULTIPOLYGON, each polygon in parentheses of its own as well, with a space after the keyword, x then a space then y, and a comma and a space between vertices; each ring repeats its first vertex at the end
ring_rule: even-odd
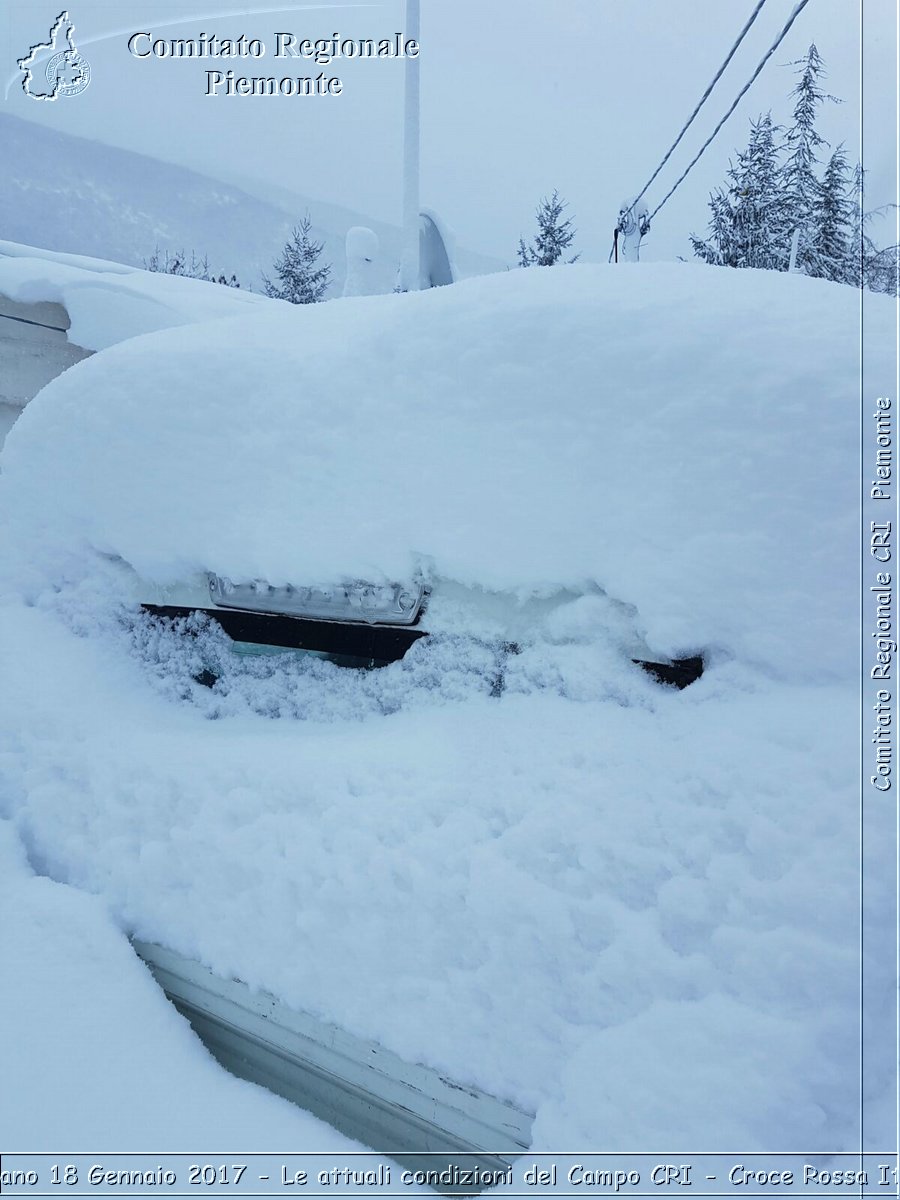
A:
POLYGON ((272 302, 240 288, 12 241, 0 241, 0 296, 61 305, 71 322, 70 342, 85 350, 272 302))

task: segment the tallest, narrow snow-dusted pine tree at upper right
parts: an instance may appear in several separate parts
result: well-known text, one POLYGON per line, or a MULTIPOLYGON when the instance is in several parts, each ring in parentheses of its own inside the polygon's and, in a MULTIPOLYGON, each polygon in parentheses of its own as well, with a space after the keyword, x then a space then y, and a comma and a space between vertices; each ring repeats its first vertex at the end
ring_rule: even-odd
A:
POLYGON ((806 54, 792 64, 797 67, 799 82, 791 92, 794 97, 793 125, 785 138, 787 158, 782 168, 785 217, 791 227, 800 230, 797 250, 797 270, 806 275, 814 270, 814 247, 817 241, 817 218, 821 214, 821 184, 816 175, 820 163, 816 151, 828 143, 816 130, 818 107, 824 100, 840 103, 836 96, 822 90, 824 64, 814 42, 806 54))

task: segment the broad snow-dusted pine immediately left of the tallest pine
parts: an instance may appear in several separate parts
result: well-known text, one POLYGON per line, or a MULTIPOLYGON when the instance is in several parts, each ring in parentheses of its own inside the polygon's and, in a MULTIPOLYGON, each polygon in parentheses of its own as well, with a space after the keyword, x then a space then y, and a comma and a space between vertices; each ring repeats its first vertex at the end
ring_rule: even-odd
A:
POLYGON ((785 222, 775 134, 767 113, 751 122, 750 142, 728 164, 728 186, 709 197, 709 234, 691 235, 694 253, 720 266, 785 270, 790 233, 785 222))

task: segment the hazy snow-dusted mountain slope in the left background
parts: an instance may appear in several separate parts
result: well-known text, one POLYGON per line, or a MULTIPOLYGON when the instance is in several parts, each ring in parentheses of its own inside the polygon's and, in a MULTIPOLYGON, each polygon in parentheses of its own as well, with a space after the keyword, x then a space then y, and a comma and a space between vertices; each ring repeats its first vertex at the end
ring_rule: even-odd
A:
MULTIPOLYGON (((329 296, 344 278, 344 236, 367 224, 380 238, 384 287, 390 290, 400 258, 398 228, 362 212, 280 192, 271 199, 208 175, 86 138, 0 114, 0 238, 47 250, 143 266, 158 245, 170 253, 193 250, 210 270, 234 272, 262 288, 292 226, 308 209, 313 235, 332 264, 329 296)), ((502 264, 460 253, 463 274, 502 264)))

